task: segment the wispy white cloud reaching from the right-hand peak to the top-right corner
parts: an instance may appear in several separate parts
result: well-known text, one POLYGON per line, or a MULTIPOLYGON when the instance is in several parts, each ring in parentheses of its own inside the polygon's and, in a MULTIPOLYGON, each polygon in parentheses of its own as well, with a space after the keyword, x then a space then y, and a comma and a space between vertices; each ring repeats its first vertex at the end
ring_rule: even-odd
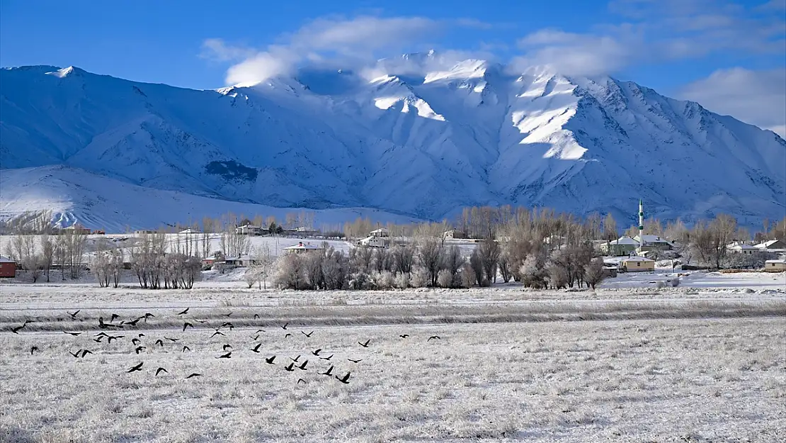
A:
MULTIPOLYGON (((777 9, 782 0, 770 2, 777 9)), ((612 74, 634 64, 711 54, 783 54, 786 19, 723 0, 615 0, 625 21, 576 34, 542 29, 519 40, 517 64, 553 65, 568 75, 612 74)))

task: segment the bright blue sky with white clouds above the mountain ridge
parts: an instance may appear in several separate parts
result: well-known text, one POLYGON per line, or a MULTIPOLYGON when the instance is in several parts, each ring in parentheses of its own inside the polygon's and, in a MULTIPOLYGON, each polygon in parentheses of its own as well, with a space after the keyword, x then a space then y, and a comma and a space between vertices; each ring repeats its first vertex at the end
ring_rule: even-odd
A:
POLYGON ((786 0, 0 3, 0 65, 199 89, 435 48, 610 74, 786 132, 786 0))

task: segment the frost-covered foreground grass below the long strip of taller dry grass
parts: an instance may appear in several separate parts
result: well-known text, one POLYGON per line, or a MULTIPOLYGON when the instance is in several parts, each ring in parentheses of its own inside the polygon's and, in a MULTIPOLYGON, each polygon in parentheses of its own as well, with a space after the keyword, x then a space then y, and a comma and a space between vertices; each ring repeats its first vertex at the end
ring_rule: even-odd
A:
POLYGON ((0 441, 777 441, 786 433, 783 318, 291 324, 256 341, 255 330, 216 338, 204 328, 140 330, 148 348, 138 356, 130 338, 139 331, 111 345, 92 341, 96 332, 2 332, 0 441), (152 345, 163 336, 181 340, 152 345), (368 349, 357 344, 369 338, 368 349), (192 352, 181 353, 183 344, 192 352), (225 344, 232 358, 215 358, 225 344), (40 352, 31 356, 31 345, 40 352), (333 355, 336 373, 352 371, 348 385, 317 374, 329 366, 310 354, 317 348, 333 355), (76 359, 68 354, 76 349, 94 354, 76 359), (276 365, 265 364, 274 354, 276 365), (307 371, 284 371, 297 355, 307 371), (143 371, 126 372, 139 362, 143 371), (156 377, 157 367, 168 374, 156 377), (192 372, 203 376, 184 379, 192 372))

